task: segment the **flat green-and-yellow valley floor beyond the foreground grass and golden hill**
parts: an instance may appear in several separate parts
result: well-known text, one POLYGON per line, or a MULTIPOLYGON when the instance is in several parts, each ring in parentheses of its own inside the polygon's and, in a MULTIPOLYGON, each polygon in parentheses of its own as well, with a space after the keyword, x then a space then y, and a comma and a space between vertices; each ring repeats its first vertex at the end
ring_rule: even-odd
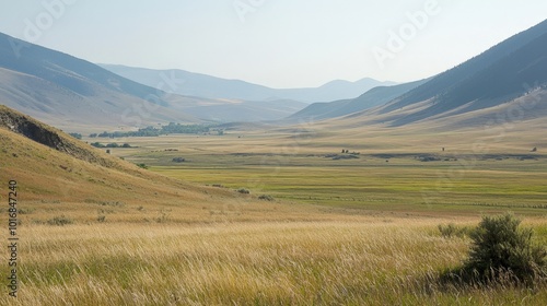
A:
POLYGON ((237 133, 141 139, 135 144, 140 148, 115 154, 170 177, 328 208, 475 216, 507 210, 545 215, 547 209, 547 156, 538 153, 499 148, 488 154, 439 148, 369 153, 358 148, 349 151, 359 152, 359 158, 333 160, 326 156, 351 154, 340 154, 342 143, 289 145, 287 136, 243 139, 237 133), (174 163, 174 157, 185 162, 174 163), (439 161, 423 162, 427 157, 439 161))

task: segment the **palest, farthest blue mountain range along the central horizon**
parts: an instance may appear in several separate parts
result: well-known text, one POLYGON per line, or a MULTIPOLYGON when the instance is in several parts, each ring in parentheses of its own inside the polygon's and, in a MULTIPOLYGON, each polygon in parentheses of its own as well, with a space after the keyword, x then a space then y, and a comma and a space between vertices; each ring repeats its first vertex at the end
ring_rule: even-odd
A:
POLYGON ((335 80, 319 87, 310 89, 270 89, 241 80, 226 80, 184 70, 153 70, 117 64, 100 64, 101 67, 141 84, 185 96, 206 98, 228 98, 242 101, 278 101, 292 99, 304 103, 330 102, 353 98, 376 87, 394 85, 395 82, 381 82, 373 79, 361 79, 357 82, 335 80), (168 86, 165 86, 168 80, 168 86))

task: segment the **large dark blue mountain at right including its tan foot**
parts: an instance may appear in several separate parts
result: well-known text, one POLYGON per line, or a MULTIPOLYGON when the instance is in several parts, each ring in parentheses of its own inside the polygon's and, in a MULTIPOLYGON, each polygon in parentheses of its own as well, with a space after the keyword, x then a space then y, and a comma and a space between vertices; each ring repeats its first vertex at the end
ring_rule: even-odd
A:
MULTIPOLYGON (((372 91, 363 96, 368 95, 372 91)), ((544 21, 384 105, 338 117, 333 123, 338 128, 420 125, 437 131, 494 126, 537 130, 546 126, 546 117, 544 21)))

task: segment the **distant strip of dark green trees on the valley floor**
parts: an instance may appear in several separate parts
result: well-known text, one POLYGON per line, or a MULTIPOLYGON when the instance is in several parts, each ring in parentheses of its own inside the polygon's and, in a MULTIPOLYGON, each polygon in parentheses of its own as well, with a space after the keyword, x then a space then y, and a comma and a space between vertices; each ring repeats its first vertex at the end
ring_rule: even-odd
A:
POLYGON ((90 138, 121 138, 121 137, 154 137, 161 134, 170 134, 170 133, 208 133, 211 130, 211 126, 202 126, 202 125, 181 125, 170 122, 166 126, 161 126, 159 128, 155 127, 147 127, 139 129, 138 131, 115 131, 115 132, 102 132, 102 133, 91 133, 90 138))

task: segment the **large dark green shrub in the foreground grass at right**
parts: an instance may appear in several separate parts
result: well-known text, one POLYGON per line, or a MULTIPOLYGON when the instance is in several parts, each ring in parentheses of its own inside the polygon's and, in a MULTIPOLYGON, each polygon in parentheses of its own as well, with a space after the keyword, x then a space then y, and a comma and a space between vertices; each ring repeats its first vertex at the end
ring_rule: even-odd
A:
POLYGON ((534 282, 546 275, 545 247, 532 240, 532 228, 520 228, 512 213, 484 216, 472 232, 473 239, 465 270, 492 280, 510 272, 519 281, 534 282))

